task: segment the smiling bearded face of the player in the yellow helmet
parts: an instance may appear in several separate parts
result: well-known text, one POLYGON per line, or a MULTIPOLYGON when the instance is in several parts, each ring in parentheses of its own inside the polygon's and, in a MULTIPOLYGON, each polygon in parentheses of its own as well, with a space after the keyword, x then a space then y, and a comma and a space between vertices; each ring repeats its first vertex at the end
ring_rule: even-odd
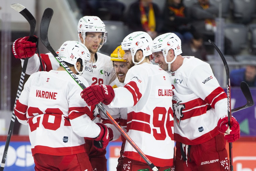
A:
POLYGON ((128 72, 127 62, 117 62, 117 61, 115 61, 113 63, 113 65, 114 65, 114 69, 116 71, 116 76, 117 76, 119 82, 123 83, 124 79, 125 79, 125 76, 126 76, 126 73, 128 72))

